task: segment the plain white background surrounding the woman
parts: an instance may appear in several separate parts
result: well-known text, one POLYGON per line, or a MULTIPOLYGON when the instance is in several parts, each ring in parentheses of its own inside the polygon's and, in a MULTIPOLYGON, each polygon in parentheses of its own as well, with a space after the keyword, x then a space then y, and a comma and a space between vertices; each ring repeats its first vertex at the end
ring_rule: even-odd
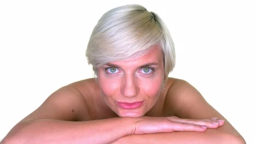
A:
POLYGON ((107 10, 137 3, 159 14, 176 45, 171 77, 195 86, 255 143, 253 1, 0 1, 0 140, 56 89, 93 76, 85 58, 107 10))

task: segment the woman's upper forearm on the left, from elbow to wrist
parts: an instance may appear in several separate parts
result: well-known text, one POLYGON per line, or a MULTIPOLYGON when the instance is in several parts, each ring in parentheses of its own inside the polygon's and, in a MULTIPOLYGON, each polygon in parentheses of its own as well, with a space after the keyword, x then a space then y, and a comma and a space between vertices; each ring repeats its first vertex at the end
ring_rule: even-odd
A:
POLYGON ((41 119, 16 125, 3 143, 110 143, 131 134, 134 120, 110 118, 69 122, 41 119))

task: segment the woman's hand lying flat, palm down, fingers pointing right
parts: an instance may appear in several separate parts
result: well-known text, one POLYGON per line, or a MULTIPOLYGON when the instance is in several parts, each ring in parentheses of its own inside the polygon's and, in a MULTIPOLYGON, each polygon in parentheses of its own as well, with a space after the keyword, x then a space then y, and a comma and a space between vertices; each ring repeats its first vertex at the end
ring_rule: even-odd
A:
POLYGON ((224 120, 184 119, 178 117, 141 117, 132 134, 170 133, 173 131, 205 131, 207 128, 218 128, 224 120))

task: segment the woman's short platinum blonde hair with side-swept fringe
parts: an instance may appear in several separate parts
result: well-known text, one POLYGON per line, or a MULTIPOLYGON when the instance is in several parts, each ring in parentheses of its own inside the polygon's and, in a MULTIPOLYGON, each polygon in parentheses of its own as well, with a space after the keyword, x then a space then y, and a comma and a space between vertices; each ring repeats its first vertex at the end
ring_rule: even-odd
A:
POLYGON ((142 56, 156 44, 161 47, 168 77, 175 65, 175 52, 165 23, 141 5, 124 5, 107 11, 98 21, 86 57, 97 75, 101 65, 142 56))

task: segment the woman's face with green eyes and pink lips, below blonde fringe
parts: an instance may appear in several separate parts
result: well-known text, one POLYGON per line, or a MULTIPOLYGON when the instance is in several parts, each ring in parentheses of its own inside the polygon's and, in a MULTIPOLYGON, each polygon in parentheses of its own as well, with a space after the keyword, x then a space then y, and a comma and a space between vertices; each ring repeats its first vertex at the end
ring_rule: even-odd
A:
POLYGON ((105 103, 119 117, 141 117, 156 104, 164 81, 162 52, 152 46, 146 55, 109 62, 97 69, 105 103))

